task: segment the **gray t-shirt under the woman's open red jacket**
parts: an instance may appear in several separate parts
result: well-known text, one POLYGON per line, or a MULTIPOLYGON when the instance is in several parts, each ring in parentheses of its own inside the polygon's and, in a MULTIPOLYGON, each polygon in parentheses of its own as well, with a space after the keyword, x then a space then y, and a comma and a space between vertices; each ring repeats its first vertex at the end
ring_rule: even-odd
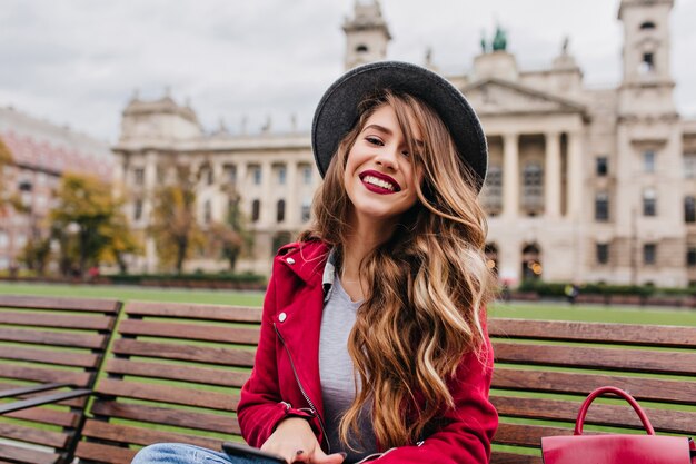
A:
MULTIPOLYGON (((331 263, 331 273, 332 267, 331 263)), ((361 442, 357 438, 350 441, 351 446, 359 450, 359 453, 344 444, 338 434, 340 419, 355 399, 355 374, 352 359, 348 354, 348 335, 355 325, 356 313, 362 302, 351 302, 340 285, 340 280, 334 276, 327 276, 327 273, 325 273, 325 288, 328 292, 319 335, 319 376, 326 432, 331 444, 331 453, 339 451, 348 453, 345 461, 348 464, 377 452, 369 407, 366 407, 361 415, 361 442), (329 280, 332 282, 329 283, 329 280)))

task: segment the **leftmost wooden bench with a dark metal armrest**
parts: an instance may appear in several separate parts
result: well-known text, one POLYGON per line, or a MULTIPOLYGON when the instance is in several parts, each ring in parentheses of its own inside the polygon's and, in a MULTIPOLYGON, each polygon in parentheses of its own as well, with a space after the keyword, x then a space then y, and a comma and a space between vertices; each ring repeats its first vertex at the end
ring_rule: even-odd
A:
POLYGON ((120 307, 0 295, 0 462, 71 461, 120 307))

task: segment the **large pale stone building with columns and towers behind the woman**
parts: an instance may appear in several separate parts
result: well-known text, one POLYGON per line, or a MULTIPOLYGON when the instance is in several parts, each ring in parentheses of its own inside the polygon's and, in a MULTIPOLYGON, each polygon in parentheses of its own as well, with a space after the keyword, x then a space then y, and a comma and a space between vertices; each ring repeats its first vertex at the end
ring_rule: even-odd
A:
MULTIPOLYGON (((673 0, 620 0, 623 77, 589 89, 567 42, 550 67, 524 70, 498 31, 470 72, 449 76, 480 116, 490 160, 483 201, 489 264, 513 284, 696 282, 696 120, 679 117, 670 75, 673 0)), ((349 69, 387 58, 391 39, 378 1, 357 2, 342 24, 349 69)), ((398 57, 389 57, 398 59, 398 57)), ((431 66, 429 57, 426 66, 431 66)), ((308 134, 205 134, 171 98, 133 99, 113 148, 116 178, 141 230, 152 191, 177 162, 202 169, 202 224, 223 220, 239 194, 255 231, 253 258, 267 273, 275 248, 309 219, 320 179, 308 134)), ((157 267, 148 240, 139 263, 157 267)), ((199 257, 189 267, 221 267, 199 257)))

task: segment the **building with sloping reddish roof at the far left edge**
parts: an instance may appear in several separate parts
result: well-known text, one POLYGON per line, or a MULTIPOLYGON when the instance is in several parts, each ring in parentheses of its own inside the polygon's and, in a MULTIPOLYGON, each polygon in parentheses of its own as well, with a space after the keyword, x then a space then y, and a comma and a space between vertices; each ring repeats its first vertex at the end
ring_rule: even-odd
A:
POLYGON ((0 195, 19 197, 24 208, 0 211, 0 272, 4 272, 20 266, 29 240, 48 236, 48 214, 62 172, 90 172, 109 181, 113 155, 106 141, 13 108, 0 108, 0 139, 13 159, 0 172, 0 195))

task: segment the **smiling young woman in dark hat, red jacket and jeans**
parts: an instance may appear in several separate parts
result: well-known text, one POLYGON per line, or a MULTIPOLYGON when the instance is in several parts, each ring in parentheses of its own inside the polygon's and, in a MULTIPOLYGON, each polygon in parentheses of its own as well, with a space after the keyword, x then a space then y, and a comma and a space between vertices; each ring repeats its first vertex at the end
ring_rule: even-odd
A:
MULTIPOLYGON (((327 90, 312 148, 325 180, 312 226, 274 261, 238 407, 245 438, 288 463, 487 463, 497 414, 476 115, 429 70, 371 63, 327 90)), ((133 461, 187 462, 247 461, 170 444, 133 461)))

